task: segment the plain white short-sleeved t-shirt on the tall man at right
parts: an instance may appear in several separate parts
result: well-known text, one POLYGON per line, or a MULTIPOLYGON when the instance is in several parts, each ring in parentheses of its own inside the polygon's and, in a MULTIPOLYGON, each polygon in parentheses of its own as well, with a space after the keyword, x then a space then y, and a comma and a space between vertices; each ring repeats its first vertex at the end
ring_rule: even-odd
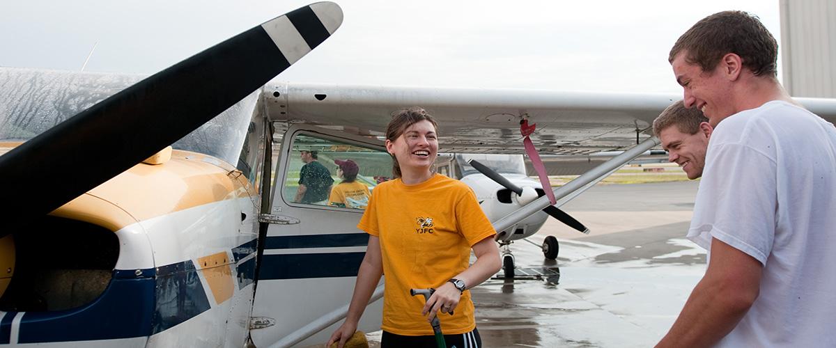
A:
POLYGON ((836 129, 772 101, 711 134, 688 238, 763 265, 760 294, 718 346, 836 346, 836 129))

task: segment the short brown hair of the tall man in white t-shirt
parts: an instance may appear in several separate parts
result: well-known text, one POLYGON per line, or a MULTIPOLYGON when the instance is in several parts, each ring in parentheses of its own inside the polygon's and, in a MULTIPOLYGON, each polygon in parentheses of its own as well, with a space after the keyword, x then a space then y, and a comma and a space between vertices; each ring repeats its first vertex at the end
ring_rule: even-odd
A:
POLYGON ((676 40, 668 62, 685 52, 686 63, 711 72, 726 53, 735 53, 755 76, 777 77, 778 44, 757 16, 723 11, 702 18, 676 40))

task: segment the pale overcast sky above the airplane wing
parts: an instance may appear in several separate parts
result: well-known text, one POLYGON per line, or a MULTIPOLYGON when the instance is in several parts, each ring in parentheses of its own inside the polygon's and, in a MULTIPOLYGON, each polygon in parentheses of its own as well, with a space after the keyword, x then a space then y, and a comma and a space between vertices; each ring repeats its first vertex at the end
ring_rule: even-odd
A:
MULTIPOLYGON (((0 11, 0 65, 155 73, 307 4, 298 0, 27 0, 0 11)), ((777 0, 336 1, 344 22, 279 79, 680 93, 667 54, 697 20, 777 0)), ((778 76, 781 76, 779 71, 778 76)))

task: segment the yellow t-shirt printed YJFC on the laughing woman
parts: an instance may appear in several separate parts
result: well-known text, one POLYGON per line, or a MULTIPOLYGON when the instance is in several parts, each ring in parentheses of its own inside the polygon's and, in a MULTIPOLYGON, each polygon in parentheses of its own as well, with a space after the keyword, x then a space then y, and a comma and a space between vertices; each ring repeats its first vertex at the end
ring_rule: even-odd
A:
MULTIPOLYGON (((472 245, 496 234, 476 194, 456 179, 435 174, 416 185, 400 179, 379 184, 357 225, 380 238, 385 291, 381 329, 397 335, 432 335, 421 315, 424 296, 410 289, 438 288, 469 266, 472 245)), ((476 327, 470 290, 454 315, 440 313, 446 335, 476 327)))

